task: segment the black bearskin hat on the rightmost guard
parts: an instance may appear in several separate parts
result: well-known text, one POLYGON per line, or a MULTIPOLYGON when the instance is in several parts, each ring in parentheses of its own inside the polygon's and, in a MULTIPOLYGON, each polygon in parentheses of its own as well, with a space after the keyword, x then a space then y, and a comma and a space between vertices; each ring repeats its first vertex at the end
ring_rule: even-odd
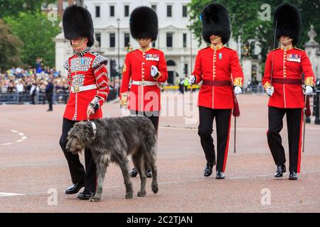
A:
POLYGON ((289 36, 293 39, 293 45, 299 43, 302 19, 297 7, 287 3, 277 6, 274 10, 273 28, 278 40, 281 36, 289 36))

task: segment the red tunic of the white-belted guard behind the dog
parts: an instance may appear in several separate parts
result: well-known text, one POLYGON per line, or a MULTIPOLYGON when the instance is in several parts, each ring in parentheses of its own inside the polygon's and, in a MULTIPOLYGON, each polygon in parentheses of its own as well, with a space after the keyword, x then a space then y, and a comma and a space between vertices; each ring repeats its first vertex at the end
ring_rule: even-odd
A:
MULTIPOLYGON (((168 79, 168 70, 164 52, 150 48, 142 51, 134 50, 126 55, 124 62, 120 96, 129 91, 130 79, 136 82, 164 83, 168 79), (151 66, 158 68, 159 74, 151 77, 151 66)), ((131 84, 128 109, 134 111, 160 111, 161 89, 159 83, 151 86, 131 84)))

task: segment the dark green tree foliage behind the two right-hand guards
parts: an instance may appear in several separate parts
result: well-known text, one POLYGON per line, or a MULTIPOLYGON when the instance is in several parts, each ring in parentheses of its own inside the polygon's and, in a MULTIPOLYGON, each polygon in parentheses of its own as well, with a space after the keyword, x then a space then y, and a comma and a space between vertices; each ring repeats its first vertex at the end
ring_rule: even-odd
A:
MULTIPOLYGON (((202 24, 200 21, 200 13, 203 8, 211 3, 211 0, 191 0, 189 7, 190 19, 193 23, 193 33, 198 39, 198 44, 202 42, 202 24)), ((262 5, 265 1, 257 0, 217 0, 224 4, 229 13, 230 23, 233 38, 238 40, 241 38, 242 43, 250 45, 252 42, 259 42, 261 48, 262 62, 265 61, 267 52, 273 48, 274 35, 273 35, 273 11, 282 2, 291 2, 295 4, 302 13, 303 32, 302 40, 298 47, 303 48, 304 43, 309 39, 307 33, 309 31, 311 23, 315 27, 315 31, 319 34, 317 40, 320 43, 320 2, 319 0, 295 0, 295 1, 269 1, 271 6, 270 20, 262 20, 261 13, 264 11, 262 5)), ((276 44, 277 45, 277 44, 276 44)))

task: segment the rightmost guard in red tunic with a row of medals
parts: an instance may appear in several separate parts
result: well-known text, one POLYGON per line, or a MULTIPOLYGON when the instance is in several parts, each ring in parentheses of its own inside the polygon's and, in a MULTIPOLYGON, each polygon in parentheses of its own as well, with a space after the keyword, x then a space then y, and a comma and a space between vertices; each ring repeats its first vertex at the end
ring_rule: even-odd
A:
POLYGON ((275 9, 274 31, 281 47, 272 50, 267 56, 262 80, 270 96, 267 141, 277 165, 274 177, 282 177, 283 172, 286 172, 286 158, 279 133, 283 127, 282 118, 287 115, 289 179, 297 179, 297 172, 300 172, 304 94, 312 94, 315 82, 306 52, 294 48, 299 43, 301 28, 301 16, 296 6, 281 4, 275 9))

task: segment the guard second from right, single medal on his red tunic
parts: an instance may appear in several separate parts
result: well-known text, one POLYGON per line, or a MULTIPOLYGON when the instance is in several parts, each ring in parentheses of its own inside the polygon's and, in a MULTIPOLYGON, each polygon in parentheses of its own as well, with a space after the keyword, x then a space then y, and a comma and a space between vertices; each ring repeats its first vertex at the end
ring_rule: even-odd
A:
POLYGON ((203 39, 210 43, 210 47, 198 52, 189 83, 203 82, 198 97, 198 135, 207 160, 204 176, 209 177, 213 165, 217 164, 216 178, 224 179, 232 109, 235 108, 235 95, 242 92, 243 73, 237 52, 224 46, 230 39, 230 22, 225 6, 209 4, 203 9, 201 18, 203 39), (217 160, 211 136, 214 118, 217 129, 217 160))

